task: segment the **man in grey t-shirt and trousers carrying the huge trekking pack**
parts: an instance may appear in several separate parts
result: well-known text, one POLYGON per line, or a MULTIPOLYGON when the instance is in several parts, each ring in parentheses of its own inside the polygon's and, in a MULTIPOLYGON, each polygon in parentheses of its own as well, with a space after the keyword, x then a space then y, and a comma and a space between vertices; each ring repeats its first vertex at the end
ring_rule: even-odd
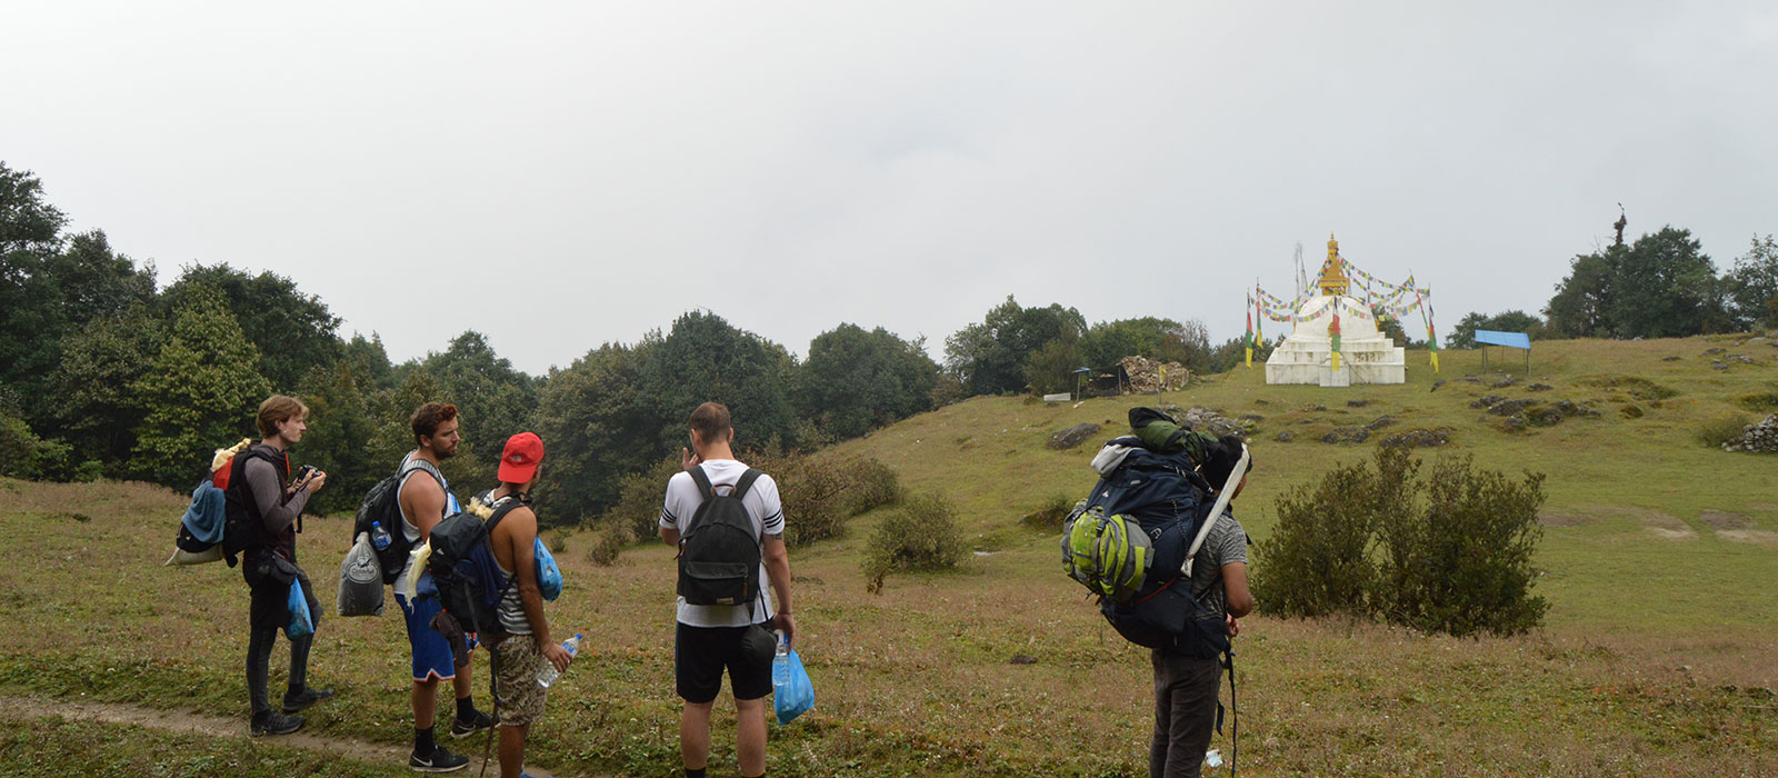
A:
MULTIPOLYGON (((1211 446, 1198 472, 1218 494, 1234 488, 1229 499, 1246 487, 1246 474, 1227 487, 1230 472, 1241 460, 1243 444, 1236 435, 1211 446)), ((1252 458, 1248 458, 1248 471, 1252 458)), ((1225 510, 1191 567, 1191 597, 1213 613, 1220 613, 1229 636, 1239 627, 1236 618, 1253 611, 1253 595, 1246 588, 1246 533, 1225 510)), ((1218 693, 1221 689, 1221 659, 1186 657, 1166 648, 1150 648, 1154 664, 1154 739, 1149 746, 1149 778, 1197 778, 1204 753, 1216 728, 1218 693)))

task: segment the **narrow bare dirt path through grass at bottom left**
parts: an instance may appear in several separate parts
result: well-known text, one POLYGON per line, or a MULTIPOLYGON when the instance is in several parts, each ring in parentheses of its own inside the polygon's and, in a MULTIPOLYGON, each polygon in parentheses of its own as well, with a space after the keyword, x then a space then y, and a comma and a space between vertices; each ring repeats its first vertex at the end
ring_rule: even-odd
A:
MULTIPOLYGON (((208 737, 247 737, 247 723, 244 719, 204 716, 187 711, 160 711, 140 705, 124 705, 112 702, 71 702, 71 700, 44 700, 36 696, 0 696, 0 716, 4 718, 23 718, 32 719, 39 716, 60 716, 73 721, 98 721, 107 725, 137 725, 151 730, 178 732, 192 735, 208 737)), ((304 748, 313 751, 325 751, 347 758, 356 758, 361 762, 380 762, 380 764, 407 764, 407 748, 388 746, 380 742, 354 741, 348 737, 324 737, 311 735, 306 732, 297 732, 292 735, 263 737, 265 744, 304 748)), ((482 766, 482 739, 480 735, 473 739, 477 744, 473 750, 464 750, 462 753, 471 753, 469 771, 473 774, 482 766)), ((489 764, 489 774, 500 774, 498 764, 489 764)), ((539 778, 576 778, 571 773, 551 773, 535 766, 525 766, 526 773, 539 778)), ((608 778, 608 776, 599 776, 608 778)))

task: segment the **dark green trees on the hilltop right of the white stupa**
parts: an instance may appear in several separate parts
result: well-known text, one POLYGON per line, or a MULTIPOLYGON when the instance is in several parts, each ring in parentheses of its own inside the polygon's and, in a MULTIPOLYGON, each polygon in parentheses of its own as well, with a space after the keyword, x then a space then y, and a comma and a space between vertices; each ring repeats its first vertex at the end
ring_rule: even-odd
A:
POLYGON ((1718 274, 1689 229, 1661 227, 1630 245, 1575 256, 1538 318, 1526 311, 1470 313, 1449 345, 1476 345, 1476 330, 1561 337, 1686 337, 1778 327, 1778 242, 1755 236, 1718 274))

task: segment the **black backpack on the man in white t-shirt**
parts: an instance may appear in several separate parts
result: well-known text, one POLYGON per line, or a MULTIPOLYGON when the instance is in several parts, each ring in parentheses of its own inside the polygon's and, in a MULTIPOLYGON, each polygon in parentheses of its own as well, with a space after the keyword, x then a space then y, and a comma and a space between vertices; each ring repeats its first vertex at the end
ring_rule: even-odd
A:
POLYGON ((704 496, 679 538, 679 597, 692 606, 747 606, 759 597, 759 533, 741 497, 759 478, 749 467, 718 496, 704 467, 686 471, 704 496))

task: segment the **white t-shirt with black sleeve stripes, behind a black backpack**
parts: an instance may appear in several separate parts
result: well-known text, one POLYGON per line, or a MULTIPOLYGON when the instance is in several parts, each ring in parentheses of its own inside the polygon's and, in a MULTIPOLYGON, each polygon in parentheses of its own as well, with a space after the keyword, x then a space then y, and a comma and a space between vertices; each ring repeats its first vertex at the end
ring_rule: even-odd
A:
MULTIPOLYGON (((747 472, 747 464, 738 460, 709 460, 699 464, 699 467, 704 469, 704 476, 709 478, 717 494, 729 494, 734 488, 734 481, 741 480, 741 472, 747 472)), ((697 481, 692 480, 692 474, 674 472, 672 480, 667 481, 667 503, 661 508, 660 526, 679 529, 679 535, 685 535, 692 528, 692 513, 702 503, 704 496, 697 492, 697 481)), ((741 496, 741 504, 747 506, 747 515, 754 520, 754 531, 759 533, 761 544, 768 536, 784 535, 784 506, 779 503, 777 481, 772 476, 761 472, 747 494, 741 496)), ((749 606, 692 606, 685 602, 685 597, 679 597, 679 623, 688 627, 745 627, 765 622, 773 613, 777 611, 772 609, 772 586, 765 563, 759 565, 759 602, 749 606)))

